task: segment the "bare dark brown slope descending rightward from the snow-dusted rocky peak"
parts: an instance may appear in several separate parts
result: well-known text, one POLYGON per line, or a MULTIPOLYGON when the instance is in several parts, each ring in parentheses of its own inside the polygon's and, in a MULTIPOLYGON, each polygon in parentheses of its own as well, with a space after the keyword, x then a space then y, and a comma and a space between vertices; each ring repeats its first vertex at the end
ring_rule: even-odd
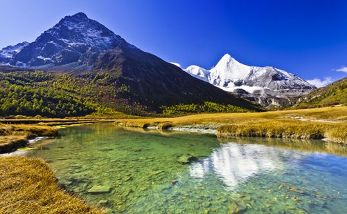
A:
POLYGON ((133 95, 139 95, 146 106, 214 101, 255 110, 249 101, 226 93, 148 52, 130 46, 117 46, 96 59, 95 70, 107 70, 117 77, 118 86, 125 84, 133 95))

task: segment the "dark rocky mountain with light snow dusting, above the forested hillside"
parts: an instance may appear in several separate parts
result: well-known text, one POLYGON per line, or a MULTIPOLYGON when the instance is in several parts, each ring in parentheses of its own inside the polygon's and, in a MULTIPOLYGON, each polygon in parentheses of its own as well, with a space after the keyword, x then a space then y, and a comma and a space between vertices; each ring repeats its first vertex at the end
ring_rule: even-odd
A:
POLYGON ((259 110, 259 106, 143 52, 81 12, 64 17, 9 58, 3 64, 67 71, 87 81, 96 74, 107 73, 107 84, 117 88, 116 95, 104 95, 107 99, 144 106, 146 110, 204 101, 259 110))

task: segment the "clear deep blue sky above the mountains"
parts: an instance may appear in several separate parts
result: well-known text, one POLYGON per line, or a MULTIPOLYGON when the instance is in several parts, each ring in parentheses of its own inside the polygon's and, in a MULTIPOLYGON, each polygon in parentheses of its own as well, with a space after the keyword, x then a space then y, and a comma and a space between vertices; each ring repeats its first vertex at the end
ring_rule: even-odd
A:
POLYGON ((229 53, 304 79, 346 77, 347 1, 0 1, 0 47, 34 41, 85 12, 135 46, 182 67, 211 68, 229 53))

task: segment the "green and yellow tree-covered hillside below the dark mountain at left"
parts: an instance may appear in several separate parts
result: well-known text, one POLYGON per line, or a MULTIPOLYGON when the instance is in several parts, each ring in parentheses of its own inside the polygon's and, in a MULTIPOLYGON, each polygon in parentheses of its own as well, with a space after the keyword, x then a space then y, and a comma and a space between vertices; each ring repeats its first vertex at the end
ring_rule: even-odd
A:
POLYGON ((114 88, 110 81, 105 73, 75 77, 43 71, 0 72, 0 116, 150 115, 141 106, 134 108, 117 99, 127 88, 114 88))

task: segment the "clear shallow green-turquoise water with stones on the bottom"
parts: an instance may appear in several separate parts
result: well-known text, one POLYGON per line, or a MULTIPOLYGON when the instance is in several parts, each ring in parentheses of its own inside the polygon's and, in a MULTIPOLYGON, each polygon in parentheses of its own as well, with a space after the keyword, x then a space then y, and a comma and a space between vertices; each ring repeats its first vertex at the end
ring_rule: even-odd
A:
POLYGON ((46 159, 64 188, 109 213, 347 213, 346 148, 333 144, 112 124, 60 135, 28 155, 46 159), (179 163, 186 154, 197 161, 179 163), (89 193, 96 185, 111 191, 89 193))

